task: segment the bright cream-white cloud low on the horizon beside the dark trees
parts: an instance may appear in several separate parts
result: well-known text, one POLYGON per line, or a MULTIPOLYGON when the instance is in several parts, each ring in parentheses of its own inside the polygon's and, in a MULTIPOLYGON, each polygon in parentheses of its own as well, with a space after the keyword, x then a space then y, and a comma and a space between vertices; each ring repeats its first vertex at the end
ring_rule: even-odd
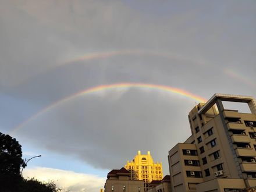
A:
POLYGON ((98 192, 99 189, 104 188, 106 180, 97 175, 42 167, 26 168, 23 176, 34 177, 42 182, 54 181, 57 187, 70 192, 98 192))

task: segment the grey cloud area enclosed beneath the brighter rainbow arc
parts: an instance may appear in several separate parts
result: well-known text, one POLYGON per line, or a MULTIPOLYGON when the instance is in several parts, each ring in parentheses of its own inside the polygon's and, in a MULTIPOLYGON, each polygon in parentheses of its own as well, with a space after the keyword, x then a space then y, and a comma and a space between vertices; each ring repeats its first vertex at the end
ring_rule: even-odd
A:
POLYGON ((95 168, 120 168, 137 150, 151 151, 168 173, 170 146, 190 134, 186 119, 191 105, 192 99, 164 91, 105 91, 104 97, 94 93, 58 105, 29 122, 17 135, 21 143, 72 155, 95 168))

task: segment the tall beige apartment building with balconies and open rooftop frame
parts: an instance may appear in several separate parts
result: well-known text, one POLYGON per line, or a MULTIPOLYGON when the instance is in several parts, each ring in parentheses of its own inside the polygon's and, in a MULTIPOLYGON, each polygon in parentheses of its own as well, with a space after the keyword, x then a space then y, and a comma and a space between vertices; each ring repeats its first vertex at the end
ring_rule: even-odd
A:
POLYGON ((256 186, 256 102, 215 94, 189 113, 191 136, 168 155, 172 191, 238 191, 256 186), (251 113, 224 109, 247 103, 251 113))

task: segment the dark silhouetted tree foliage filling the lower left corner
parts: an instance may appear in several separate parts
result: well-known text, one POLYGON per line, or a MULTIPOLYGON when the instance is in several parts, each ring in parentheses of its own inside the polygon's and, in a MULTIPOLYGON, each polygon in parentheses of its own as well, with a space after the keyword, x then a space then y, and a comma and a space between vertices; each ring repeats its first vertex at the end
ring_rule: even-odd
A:
POLYGON ((0 132, 0 191, 1 192, 58 192, 54 182, 23 179, 20 168, 25 167, 22 145, 15 138, 0 132))

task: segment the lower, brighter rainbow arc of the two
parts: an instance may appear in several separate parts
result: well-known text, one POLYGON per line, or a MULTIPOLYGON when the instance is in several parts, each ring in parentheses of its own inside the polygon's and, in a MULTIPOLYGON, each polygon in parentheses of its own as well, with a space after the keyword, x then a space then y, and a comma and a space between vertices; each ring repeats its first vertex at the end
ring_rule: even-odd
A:
POLYGON ((104 90, 111 90, 113 88, 149 88, 151 90, 162 90, 166 91, 168 93, 175 93, 182 95, 184 97, 190 98, 190 99, 195 99, 195 101, 199 102, 206 102, 205 98, 202 98, 198 95, 194 95, 192 93, 189 93, 185 90, 182 90, 180 88, 175 88, 175 87, 169 87, 169 86, 162 86, 162 85, 157 85, 157 84, 146 84, 146 83, 117 83, 117 84, 106 84, 106 85, 101 85, 101 86, 96 86, 96 87, 91 87, 86 90, 80 91, 79 93, 70 95, 66 98, 63 98, 59 101, 54 102, 51 105, 48 105, 41 111, 35 113, 33 116, 31 116, 29 119, 25 120, 24 122, 20 123, 17 127, 15 127, 12 131, 10 131, 9 134, 15 134, 16 131, 20 130, 22 127, 24 127, 27 123, 29 123, 31 120, 37 118, 39 115, 41 115, 44 112, 49 111, 50 109, 54 108, 57 105, 63 104, 67 101, 70 101, 71 99, 74 99, 76 97, 80 97, 82 95, 87 95, 90 93, 96 93, 98 91, 104 91, 104 90))

